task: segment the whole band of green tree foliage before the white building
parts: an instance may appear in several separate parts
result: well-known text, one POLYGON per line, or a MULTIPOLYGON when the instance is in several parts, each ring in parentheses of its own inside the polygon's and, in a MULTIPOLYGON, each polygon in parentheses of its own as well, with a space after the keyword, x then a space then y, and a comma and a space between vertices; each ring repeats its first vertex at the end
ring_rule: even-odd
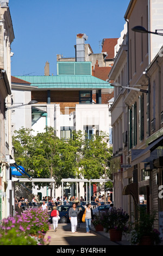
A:
MULTIPOLYGON (((99 179, 109 176, 112 149, 104 136, 83 139, 81 131, 73 131, 68 141, 55 136, 52 127, 32 135, 22 127, 12 137, 16 163, 24 167, 33 178, 54 178, 56 186, 61 179, 99 179)), ((37 184, 45 186, 43 183, 37 184)))

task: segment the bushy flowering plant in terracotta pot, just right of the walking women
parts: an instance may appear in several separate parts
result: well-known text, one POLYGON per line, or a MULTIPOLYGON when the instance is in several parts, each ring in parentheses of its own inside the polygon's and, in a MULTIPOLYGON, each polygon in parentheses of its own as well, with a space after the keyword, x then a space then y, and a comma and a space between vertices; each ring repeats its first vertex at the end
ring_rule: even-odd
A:
POLYGON ((103 212, 103 226, 110 234, 111 241, 121 241, 122 234, 128 231, 129 215, 123 209, 111 209, 103 212))

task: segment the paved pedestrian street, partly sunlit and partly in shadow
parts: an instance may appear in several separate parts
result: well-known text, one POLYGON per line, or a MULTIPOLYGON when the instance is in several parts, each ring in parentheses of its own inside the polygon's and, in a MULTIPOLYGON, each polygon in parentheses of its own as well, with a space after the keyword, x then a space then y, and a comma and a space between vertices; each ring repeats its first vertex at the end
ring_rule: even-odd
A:
POLYGON ((108 245, 129 245, 127 239, 122 238, 122 242, 112 242, 109 239, 109 234, 104 231, 96 232, 92 227, 91 233, 87 234, 85 230, 85 223, 80 223, 77 228, 77 233, 71 232, 71 224, 58 224, 57 232, 54 232, 53 225, 47 232, 45 238, 51 236, 51 242, 49 245, 87 245, 87 246, 108 246, 108 245))

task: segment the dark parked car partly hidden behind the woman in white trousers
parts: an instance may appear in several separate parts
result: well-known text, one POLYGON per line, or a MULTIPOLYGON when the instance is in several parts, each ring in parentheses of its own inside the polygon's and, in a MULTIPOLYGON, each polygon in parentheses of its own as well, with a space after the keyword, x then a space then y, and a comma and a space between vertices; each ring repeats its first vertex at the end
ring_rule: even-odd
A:
MULTIPOLYGON (((66 205, 66 204, 57 206, 57 210, 59 211, 59 217, 60 217, 60 220, 58 221, 59 223, 70 222, 68 212, 69 212, 71 207, 72 207, 72 205, 66 205)), ((82 217, 83 217, 85 208, 83 206, 80 206, 80 205, 77 205, 77 208, 82 209, 82 210, 80 210, 80 212, 78 214, 78 222, 82 222, 82 217)), ((49 222, 52 223, 52 217, 51 216, 49 217, 49 222)))

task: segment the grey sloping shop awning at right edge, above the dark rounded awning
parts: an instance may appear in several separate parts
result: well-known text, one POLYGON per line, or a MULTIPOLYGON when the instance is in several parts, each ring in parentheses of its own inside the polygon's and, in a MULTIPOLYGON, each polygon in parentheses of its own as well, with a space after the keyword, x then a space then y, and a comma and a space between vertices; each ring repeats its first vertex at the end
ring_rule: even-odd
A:
POLYGON ((151 157, 150 161, 153 161, 155 159, 154 158, 155 155, 152 156, 151 152, 154 151, 159 146, 161 146, 162 143, 163 143, 163 136, 156 139, 154 142, 152 142, 150 145, 148 145, 148 147, 146 149, 142 150, 141 153, 139 155, 137 155, 133 161, 131 161, 131 166, 135 166, 135 164, 140 163, 140 162, 145 162, 145 160, 146 160, 146 162, 149 162, 148 157, 151 157))

